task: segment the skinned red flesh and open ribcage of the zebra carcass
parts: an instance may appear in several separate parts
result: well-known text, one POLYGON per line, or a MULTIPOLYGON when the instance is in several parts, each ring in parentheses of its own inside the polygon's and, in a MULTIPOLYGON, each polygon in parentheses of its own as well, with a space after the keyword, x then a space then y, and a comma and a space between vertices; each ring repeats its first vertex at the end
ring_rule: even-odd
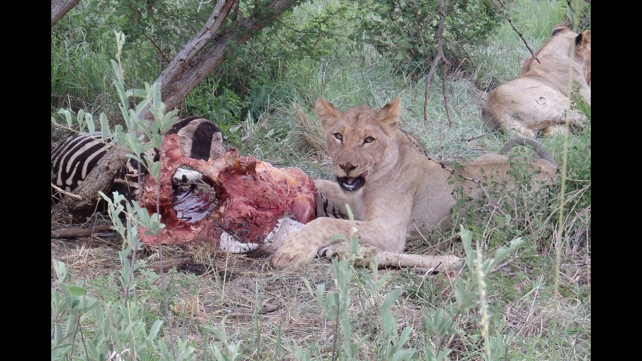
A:
POLYGON ((168 134, 160 149, 159 182, 146 177, 139 204, 160 213, 165 227, 159 236, 144 229, 144 243, 212 243, 228 252, 271 254, 285 236, 315 218, 317 188, 298 168, 275 168, 232 149, 207 161, 188 157, 179 138, 168 134), (189 166, 202 175, 214 195, 174 186, 175 173, 189 166))

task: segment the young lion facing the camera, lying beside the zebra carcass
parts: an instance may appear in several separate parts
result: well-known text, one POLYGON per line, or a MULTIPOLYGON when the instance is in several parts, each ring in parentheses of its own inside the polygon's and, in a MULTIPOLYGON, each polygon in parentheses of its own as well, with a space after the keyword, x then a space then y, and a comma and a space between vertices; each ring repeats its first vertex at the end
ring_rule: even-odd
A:
MULTIPOLYGON (((514 188, 507 175, 507 155, 484 154, 462 163, 463 170, 431 157, 417 139, 398 128, 399 98, 381 109, 362 105, 343 112, 318 98, 315 110, 336 175, 336 181, 315 180, 315 184, 334 206, 348 204, 354 221, 312 220, 288 235, 274 254, 275 265, 315 258, 322 247, 337 242, 331 236, 349 235, 353 226, 358 229, 355 234, 360 243, 401 253, 413 230, 425 233, 451 225, 451 207, 456 202, 453 193, 459 186, 469 197, 483 194, 482 180, 514 188)), ((557 172, 550 155, 539 143, 523 137, 514 138, 502 152, 516 143, 535 146, 546 158, 539 157, 532 166, 539 171, 534 172, 533 188, 550 184, 557 172)), ((345 206, 340 208, 347 214, 345 206)))

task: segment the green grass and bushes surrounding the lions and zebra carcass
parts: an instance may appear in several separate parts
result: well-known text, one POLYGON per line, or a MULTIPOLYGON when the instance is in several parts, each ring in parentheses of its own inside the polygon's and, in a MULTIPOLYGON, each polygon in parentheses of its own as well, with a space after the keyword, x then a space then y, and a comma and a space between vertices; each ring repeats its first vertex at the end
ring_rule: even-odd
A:
MULTIPOLYGON (((235 48, 182 101, 179 114, 206 116, 242 153, 298 166, 312 177, 331 175, 313 110, 318 96, 340 109, 379 107, 399 96, 401 127, 431 154, 461 161, 492 152, 507 138, 485 132, 481 106, 487 91, 514 78, 529 56, 496 6, 537 49, 555 24, 590 28, 590 1, 572 3, 578 16, 566 1, 445 3, 453 127, 438 90, 441 76, 433 78, 428 124, 422 116, 437 43, 436 0, 303 3, 235 48)), ((144 89, 212 6, 80 1, 52 29, 52 115, 68 107, 123 123, 110 63, 114 30, 126 35, 126 86, 144 89)), ((62 134, 52 127, 52 141, 62 134)), ((561 164, 564 138, 541 141, 561 164)), ((343 260, 279 270, 207 247, 167 247, 165 261, 178 267, 162 278, 158 253, 131 234, 124 242, 121 236, 52 240, 52 360, 590 359, 590 122, 568 141, 565 189, 520 193, 510 216, 466 215, 463 229, 409 243, 408 252, 425 253, 461 231, 464 242, 444 252, 479 267, 459 276, 359 269, 343 260), (270 304, 282 307, 258 312, 270 304)))

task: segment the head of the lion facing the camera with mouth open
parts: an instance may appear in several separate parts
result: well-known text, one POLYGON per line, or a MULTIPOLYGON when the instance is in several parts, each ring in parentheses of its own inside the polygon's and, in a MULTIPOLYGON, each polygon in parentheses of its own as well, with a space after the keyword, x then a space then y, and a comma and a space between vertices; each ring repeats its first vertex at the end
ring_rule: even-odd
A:
POLYGON ((367 179, 376 179, 379 170, 396 163, 399 151, 390 145, 396 142, 399 98, 381 109, 361 105, 343 112, 318 98, 315 110, 341 188, 357 191, 367 179))

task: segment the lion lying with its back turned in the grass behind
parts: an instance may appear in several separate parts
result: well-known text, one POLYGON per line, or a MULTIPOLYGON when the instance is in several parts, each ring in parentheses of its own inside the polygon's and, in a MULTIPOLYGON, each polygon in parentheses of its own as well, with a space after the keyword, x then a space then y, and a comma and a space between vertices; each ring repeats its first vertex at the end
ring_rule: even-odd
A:
POLYGON ((485 127, 527 137, 552 136, 567 132, 567 119, 571 127, 586 121, 571 109, 570 95, 577 89, 591 104, 591 30, 578 35, 557 25, 535 55, 541 64, 526 59, 517 78, 490 91, 482 108, 485 127))

